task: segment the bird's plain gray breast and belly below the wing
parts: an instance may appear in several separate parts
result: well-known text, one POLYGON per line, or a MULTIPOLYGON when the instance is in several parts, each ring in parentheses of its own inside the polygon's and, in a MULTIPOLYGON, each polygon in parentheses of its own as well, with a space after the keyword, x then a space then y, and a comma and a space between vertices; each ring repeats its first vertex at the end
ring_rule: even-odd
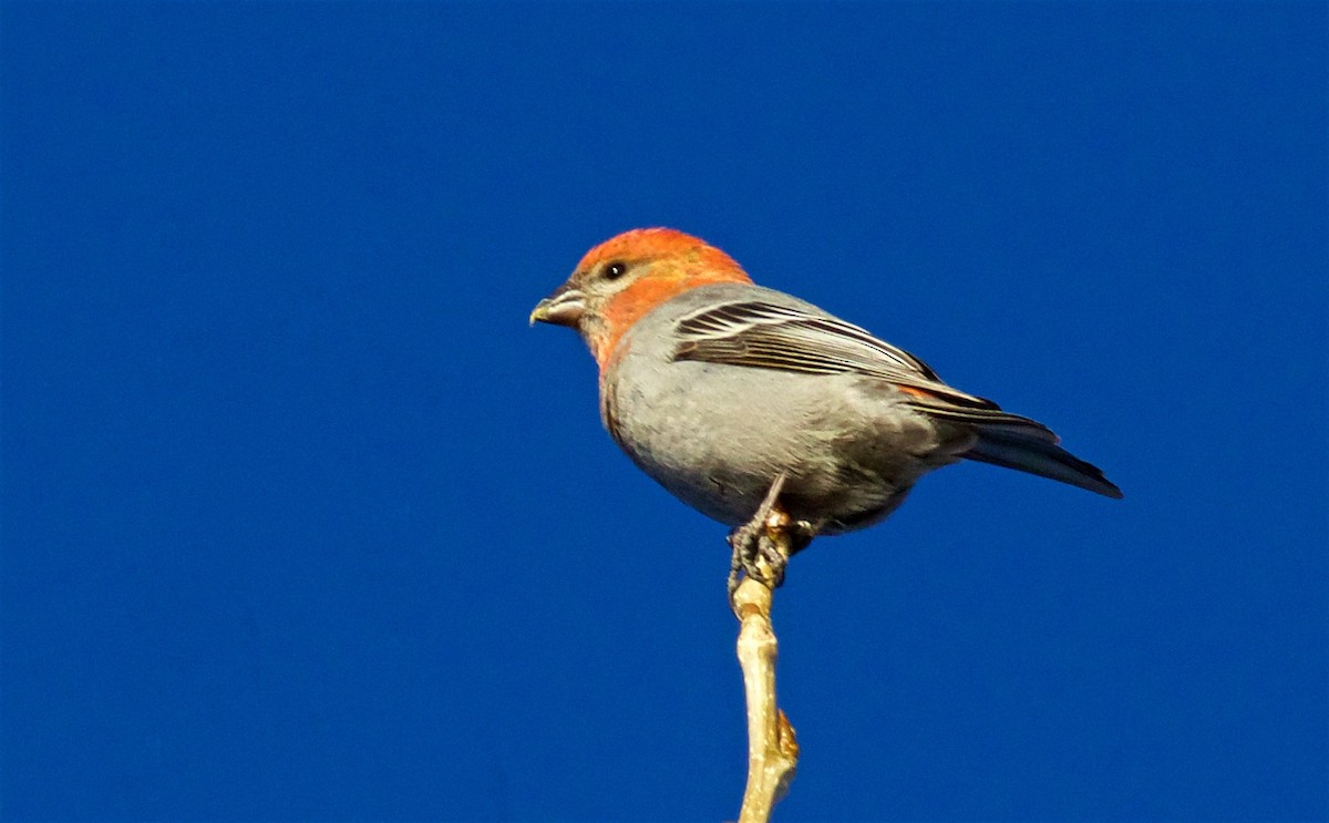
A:
POLYGON ((603 387, 606 428, 642 471, 731 527, 747 523, 785 472, 780 501, 793 519, 831 534, 863 528, 922 473, 956 460, 932 421, 863 378, 633 366, 603 387))

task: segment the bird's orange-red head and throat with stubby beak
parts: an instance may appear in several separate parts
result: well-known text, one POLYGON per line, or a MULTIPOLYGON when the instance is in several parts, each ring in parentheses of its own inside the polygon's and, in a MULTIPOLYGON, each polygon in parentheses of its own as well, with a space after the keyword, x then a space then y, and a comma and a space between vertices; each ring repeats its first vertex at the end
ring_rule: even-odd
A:
POLYGON ((530 322, 575 328, 603 370, 623 332, 664 300, 708 283, 751 282, 734 258, 690 234, 633 229, 587 251, 530 322))

